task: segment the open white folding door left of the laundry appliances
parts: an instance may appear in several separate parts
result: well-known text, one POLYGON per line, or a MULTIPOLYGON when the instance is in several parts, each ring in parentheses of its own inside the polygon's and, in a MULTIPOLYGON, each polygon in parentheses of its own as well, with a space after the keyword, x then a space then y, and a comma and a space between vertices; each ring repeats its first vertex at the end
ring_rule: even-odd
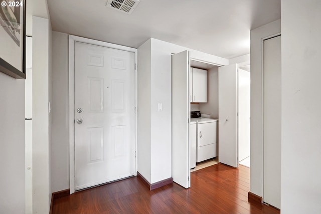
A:
POLYGON ((172 55, 172 177, 185 188, 190 181, 190 53, 172 55))

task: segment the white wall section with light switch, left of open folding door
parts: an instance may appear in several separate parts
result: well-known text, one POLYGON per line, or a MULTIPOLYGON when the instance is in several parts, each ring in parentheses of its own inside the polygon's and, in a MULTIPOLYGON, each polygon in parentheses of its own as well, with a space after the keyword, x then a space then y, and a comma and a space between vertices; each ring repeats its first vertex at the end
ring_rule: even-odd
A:
POLYGON ((162 41, 151 39, 151 183, 172 177, 172 63, 162 41), (158 103, 163 111, 157 110, 158 103))

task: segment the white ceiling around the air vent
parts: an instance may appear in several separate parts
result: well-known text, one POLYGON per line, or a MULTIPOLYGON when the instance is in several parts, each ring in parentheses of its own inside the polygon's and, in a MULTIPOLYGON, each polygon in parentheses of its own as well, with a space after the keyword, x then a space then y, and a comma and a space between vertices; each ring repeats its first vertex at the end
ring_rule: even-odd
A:
POLYGON ((47 0, 52 29, 138 48, 150 37, 223 58, 250 53, 250 30, 281 18, 280 0, 140 0, 131 15, 107 0, 47 0))

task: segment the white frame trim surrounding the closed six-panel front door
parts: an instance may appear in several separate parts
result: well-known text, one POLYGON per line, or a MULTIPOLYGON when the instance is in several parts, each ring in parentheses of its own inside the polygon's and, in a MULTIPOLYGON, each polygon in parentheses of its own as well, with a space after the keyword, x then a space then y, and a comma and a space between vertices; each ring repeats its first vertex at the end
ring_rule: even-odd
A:
MULTIPOLYGON (((137 152, 137 49, 69 35, 69 180, 70 194, 75 192, 75 42, 82 42, 135 54, 135 151, 137 152)), ((135 155, 135 175, 137 155, 135 155)))

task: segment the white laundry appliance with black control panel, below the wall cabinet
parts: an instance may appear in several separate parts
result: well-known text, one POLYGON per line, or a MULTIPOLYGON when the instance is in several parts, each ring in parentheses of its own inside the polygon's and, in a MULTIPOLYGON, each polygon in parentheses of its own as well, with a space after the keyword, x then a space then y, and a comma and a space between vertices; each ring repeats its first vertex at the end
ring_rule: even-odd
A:
POLYGON ((191 112, 191 121, 197 122, 197 147, 196 162, 216 157, 218 154, 217 144, 217 122, 218 119, 195 117, 201 116, 199 111, 191 112), (193 116, 192 116, 193 115, 193 116))

